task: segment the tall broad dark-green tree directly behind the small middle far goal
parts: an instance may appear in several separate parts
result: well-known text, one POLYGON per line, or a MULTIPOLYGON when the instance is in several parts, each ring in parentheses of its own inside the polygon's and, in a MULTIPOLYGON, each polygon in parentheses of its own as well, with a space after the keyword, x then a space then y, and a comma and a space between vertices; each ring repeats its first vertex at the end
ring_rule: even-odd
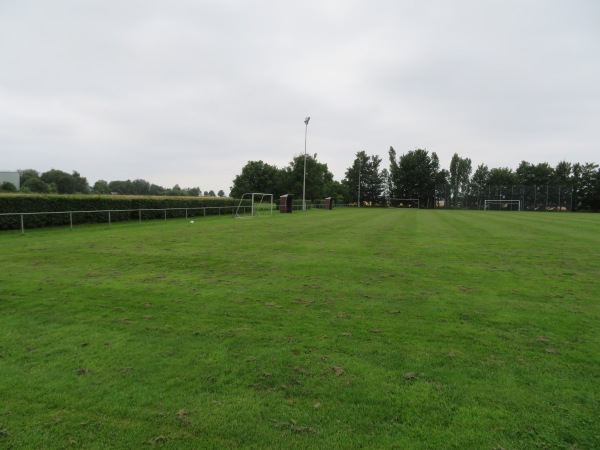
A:
MULTIPOLYGON (((390 158, 395 153, 390 148, 390 158)), ((424 149, 409 151, 400 156, 397 164, 395 160, 390 159, 390 173, 394 186, 392 197, 418 198, 421 206, 433 207, 439 166, 437 154, 432 152, 430 155, 424 149)))

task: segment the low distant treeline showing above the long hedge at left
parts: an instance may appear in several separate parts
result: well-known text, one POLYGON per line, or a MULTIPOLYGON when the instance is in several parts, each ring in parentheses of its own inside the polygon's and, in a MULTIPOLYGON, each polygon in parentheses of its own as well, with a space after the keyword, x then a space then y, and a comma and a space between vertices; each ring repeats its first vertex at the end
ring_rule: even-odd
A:
MULTIPOLYGON (((222 190, 217 194, 213 190, 204 191, 199 187, 180 188, 178 184, 172 188, 164 188, 146 180, 104 181, 98 180, 90 186, 87 179, 78 172, 67 173, 62 170, 51 169, 40 173, 34 169, 19 170, 22 193, 39 194, 121 194, 121 195, 161 195, 171 197, 225 197, 222 190)), ((16 192, 14 184, 4 182, 0 185, 2 192, 16 192)))

